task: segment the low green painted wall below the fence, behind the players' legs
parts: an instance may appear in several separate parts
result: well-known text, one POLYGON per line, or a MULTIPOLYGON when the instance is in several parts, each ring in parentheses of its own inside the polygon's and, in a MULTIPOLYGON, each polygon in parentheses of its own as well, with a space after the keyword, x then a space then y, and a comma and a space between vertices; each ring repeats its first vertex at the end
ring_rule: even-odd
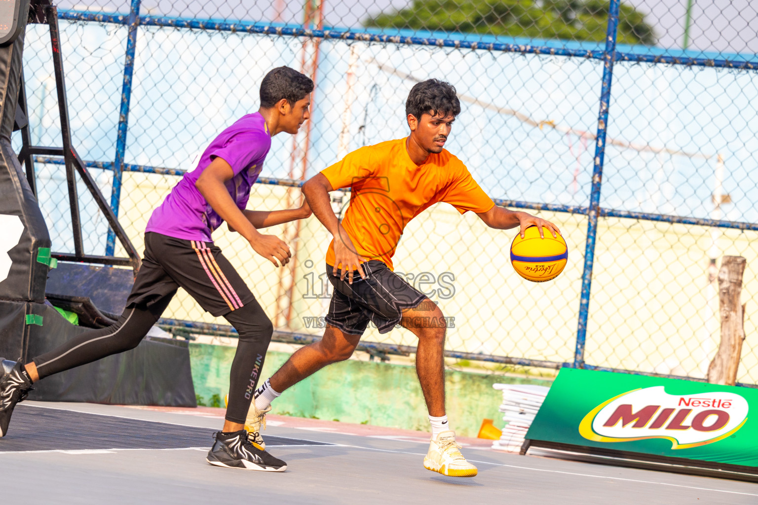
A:
MULTIPOLYGON (((229 370, 236 348, 189 344, 196 394, 207 401, 229 391, 229 370)), ((290 354, 269 351, 262 380, 268 379, 290 354)), ((550 385, 550 381, 527 377, 495 376, 448 371, 446 373, 447 415, 456 433, 475 437, 482 419, 494 419, 503 427, 498 407, 501 391, 497 382, 550 385)), ((274 401, 271 413, 362 422, 374 426, 427 431, 429 420, 413 366, 347 360, 334 363, 294 385, 274 401)))

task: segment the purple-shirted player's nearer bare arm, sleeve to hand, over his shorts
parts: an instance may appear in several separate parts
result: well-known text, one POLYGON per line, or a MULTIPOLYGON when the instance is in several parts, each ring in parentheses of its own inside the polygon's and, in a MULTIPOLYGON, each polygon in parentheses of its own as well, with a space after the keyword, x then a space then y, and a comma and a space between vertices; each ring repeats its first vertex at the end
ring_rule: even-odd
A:
POLYGON ((202 171, 195 187, 211 205, 211 208, 221 216, 221 219, 229 223, 233 229, 240 232, 250 243, 255 252, 274 263, 274 267, 282 266, 290 262, 290 248, 283 240, 274 235, 262 235, 252 226, 252 223, 242 213, 224 185, 227 180, 234 176, 230 164, 223 158, 216 157, 205 170, 202 171), (279 260, 279 263, 277 263, 279 260))

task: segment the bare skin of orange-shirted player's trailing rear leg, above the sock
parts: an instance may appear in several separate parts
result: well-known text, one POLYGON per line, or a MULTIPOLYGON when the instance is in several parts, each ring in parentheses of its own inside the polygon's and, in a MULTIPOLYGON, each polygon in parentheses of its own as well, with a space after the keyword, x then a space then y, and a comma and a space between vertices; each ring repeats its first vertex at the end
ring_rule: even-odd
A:
POLYGON ((324 338, 313 344, 299 348, 290 356, 287 363, 271 376, 269 384, 274 391, 279 393, 290 388, 297 382, 318 372, 331 363, 343 361, 352 356, 356 350, 360 335, 343 333, 334 326, 327 325, 324 338))

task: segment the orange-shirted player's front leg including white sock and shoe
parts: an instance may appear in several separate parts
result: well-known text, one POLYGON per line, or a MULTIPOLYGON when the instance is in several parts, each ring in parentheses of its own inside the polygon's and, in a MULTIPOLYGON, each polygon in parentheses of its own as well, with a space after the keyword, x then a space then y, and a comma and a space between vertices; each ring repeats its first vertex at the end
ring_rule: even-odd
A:
POLYGON ((451 477, 473 477, 477 468, 461 454, 456 432, 449 429, 445 413, 444 321, 440 307, 428 298, 412 309, 403 310, 400 321, 418 337, 416 373, 432 426, 424 468, 451 477))

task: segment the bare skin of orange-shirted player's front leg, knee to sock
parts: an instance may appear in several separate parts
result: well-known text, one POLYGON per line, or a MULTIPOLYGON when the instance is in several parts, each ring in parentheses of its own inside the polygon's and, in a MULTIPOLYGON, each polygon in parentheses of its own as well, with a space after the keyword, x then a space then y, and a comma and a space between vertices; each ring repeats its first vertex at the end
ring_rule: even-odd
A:
POLYGON ((425 298, 418 307, 404 310, 400 324, 418 337, 416 374, 424 393, 430 416, 445 415, 445 327, 428 327, 432 322, 443 322, 440 307, 425 298))

